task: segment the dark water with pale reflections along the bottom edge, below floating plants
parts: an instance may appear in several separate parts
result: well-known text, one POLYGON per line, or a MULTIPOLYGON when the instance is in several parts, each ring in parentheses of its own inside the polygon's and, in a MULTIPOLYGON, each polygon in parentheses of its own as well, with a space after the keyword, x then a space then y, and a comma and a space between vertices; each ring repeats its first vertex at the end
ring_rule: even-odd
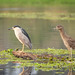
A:
MULTIPOLYGON (((19 75, 23 68, 13 68, 12 66, 18 66, 19 64, 12 64, 8 63, 7 65, 0 66, 0 75, 19 75)), ((35 67, 25 67, 24 75, 75 75, 75 72, 72 71, 72 69, 69 71, 69 69, 60 69, 60 70, 51 70, 51 71, 41 71, 41 70, 35 70, 35 67)))

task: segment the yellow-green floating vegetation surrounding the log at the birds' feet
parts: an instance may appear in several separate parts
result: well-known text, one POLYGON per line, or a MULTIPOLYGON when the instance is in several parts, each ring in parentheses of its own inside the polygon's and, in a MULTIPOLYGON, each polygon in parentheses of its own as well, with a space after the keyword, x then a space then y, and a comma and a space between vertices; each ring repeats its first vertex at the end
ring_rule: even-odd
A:
MULTIPOLYGON (((49 58, 40 58, 37 57, 36 60, 26 60, 23 58, 17 58, 13 55, 13 49, 0 51, 0 64, 8 64, 8 62, 19 63, 19 67, 35 67, 36 70, 50 71, 50 70, 60 70, 62 68, 68 69, 72 67, 75 70, 75 58, 71 60, 68 58, 68 50, 63 49, 34 49, 34 50, 25 50, 25 53, 31 53, 33 55, 53 55, 49 58), (58 58, 59 57, 59 58, 58 58), (62 57, 62 58, 61 58, 62 57)), ((75 50, 73 50, 73 55, 75 50)), ((13 66, 15 67, 15 66, 13 66)), ((62 72, 63 73, 63 72, 62 72)))

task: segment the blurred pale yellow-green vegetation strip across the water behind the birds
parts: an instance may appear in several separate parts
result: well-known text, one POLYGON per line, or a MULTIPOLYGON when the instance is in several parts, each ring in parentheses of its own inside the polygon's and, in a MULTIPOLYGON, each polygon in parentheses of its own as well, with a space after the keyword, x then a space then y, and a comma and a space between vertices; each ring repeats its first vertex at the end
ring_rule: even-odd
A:
POLYGON ((50 13, 50 12, 22 12, 0 13, 1 18, 29 18, 48 20, 75 20, 75 13, 50 13))

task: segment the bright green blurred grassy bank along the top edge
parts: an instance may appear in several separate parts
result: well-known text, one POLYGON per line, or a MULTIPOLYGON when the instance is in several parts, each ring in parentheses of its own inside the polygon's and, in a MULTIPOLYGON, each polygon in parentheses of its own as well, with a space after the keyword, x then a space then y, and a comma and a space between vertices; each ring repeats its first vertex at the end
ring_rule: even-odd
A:
POLYGON ((75 5, 75 0, 0 0, 0 7, 75 5))

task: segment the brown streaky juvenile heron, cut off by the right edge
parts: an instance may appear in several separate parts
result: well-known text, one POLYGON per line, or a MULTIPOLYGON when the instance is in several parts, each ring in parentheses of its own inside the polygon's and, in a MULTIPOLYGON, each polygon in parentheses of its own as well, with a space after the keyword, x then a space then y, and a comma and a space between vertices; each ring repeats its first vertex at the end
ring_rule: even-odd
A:
POLYGON ((69 52, 71 53, 71 57, 72 57, 72 49, 75 49, 75 40, 72 39, 71 37, 69 37, 65 32, 64 32, 64 28, 61 25, 56 26, 56 29, 59 30, 61 38, 64 42, 64 45, 66 46, 66 48, 69 50, 69 52))

